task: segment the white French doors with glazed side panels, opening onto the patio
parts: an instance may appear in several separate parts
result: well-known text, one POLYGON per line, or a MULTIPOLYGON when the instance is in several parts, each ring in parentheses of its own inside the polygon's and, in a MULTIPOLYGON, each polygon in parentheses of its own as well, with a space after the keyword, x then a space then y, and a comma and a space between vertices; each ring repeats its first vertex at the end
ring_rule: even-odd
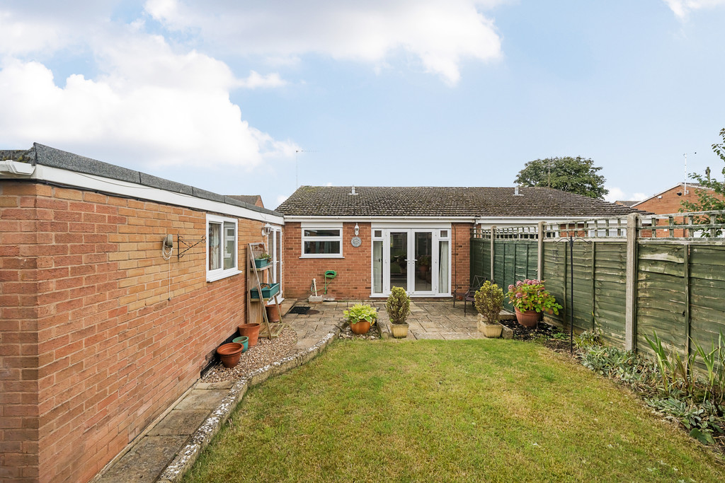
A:
POLYGON ((373 230, 373 295, 387 295, 392 287, 415 296, 450 295, 449 234, 449 229, 373 230))

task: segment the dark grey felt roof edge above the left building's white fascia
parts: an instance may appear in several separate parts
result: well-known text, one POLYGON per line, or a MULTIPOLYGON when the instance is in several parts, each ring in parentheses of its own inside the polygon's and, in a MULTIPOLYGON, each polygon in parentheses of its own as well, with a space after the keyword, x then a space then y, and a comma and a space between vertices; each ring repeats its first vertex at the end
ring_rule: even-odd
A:
POLYGON ((0 151, 0 157, 12 159, 14 161, 22 161, 24 163, 35 166, 47 166, 52 168, 66 169, 72 172, 82 173, 84 175, 94 175, 112 180, 119 180, 134 183, 148 188, 157 188, 170 193, 179 193, 181 195, 202 198, 203 200, 216 201, 240 208, 257 211, 260 214, 270 214, 281 217, 281 213, 260 206, 254 203, 246 203, 234 196, 224 196, 211 191, 195 188, 194 186, 184 185, 180 182, 165 180, 164 178, 147 175, 144 172, 134 171, 115 164, 96 161, 96 159, 86 158, 78 154, 72 154, 67 151, 61 151, 49 146, 43 146, 39 143, 33 143, 30 150, 5 150, 0 151))

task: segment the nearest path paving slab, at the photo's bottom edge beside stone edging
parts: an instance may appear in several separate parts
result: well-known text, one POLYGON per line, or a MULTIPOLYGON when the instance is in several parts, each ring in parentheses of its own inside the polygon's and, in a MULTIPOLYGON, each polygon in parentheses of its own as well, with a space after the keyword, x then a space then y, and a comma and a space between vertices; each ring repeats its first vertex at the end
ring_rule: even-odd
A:
POLYGON ((146 436, 97 482, 154 482, 186 440, 188 436, 146 436))

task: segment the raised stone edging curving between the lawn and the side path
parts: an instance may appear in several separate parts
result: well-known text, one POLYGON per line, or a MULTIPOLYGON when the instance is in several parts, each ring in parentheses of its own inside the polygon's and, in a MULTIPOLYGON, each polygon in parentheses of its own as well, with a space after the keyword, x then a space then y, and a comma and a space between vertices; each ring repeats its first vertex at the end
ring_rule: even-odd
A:
POLYGON ((328 345, 332 343, 340 335, 341 327, 338 325, 331 332, 323 337, 318 343, 312 345, 311 348, 301 350, 294 356, 289 356, 276 361, 273 364, 264 366, 247 377, 239 379, 229 390, 229 394, 225 396, 219 403, 219 406, 212 411, 211 415, 196 429, 196 432, 191 435, 191 439, 186 443, 171 463, 166 466, 166 469, 162 471, 161 475, 156 480, 158 483, 176 483, 180 482, 184 473, 194 465, 196 458, 199 458, 199 454, 204 449, 212 438, 219 432, 222 424, 229 418, 231 412, 236 408, 236 405, 244 398, 244 394, 247 393, 247 389, 252 386, 256 386, 262 382, 265 382, 272 376, 283 374, 290 369, 294 369, 302 364, 312 361, 313 358, 323 353, 327 349, 328 345))

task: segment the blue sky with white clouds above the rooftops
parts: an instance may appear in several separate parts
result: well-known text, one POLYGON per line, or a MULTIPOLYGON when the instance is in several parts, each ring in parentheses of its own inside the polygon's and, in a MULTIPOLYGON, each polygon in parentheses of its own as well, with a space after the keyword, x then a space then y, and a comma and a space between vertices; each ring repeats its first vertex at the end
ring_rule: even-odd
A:
POLYGON ((1 0, 0 149, 268 208, 583 156, 643 199, 725 167, 723 25, 725 0, 1 0))

